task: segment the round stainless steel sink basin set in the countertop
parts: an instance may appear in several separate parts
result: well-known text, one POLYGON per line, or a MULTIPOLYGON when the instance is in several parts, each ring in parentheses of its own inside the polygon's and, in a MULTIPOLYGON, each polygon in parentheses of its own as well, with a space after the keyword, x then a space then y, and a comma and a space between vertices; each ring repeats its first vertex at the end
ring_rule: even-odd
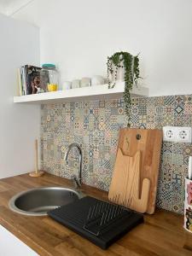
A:
POLYGON ((25 215, 43 216, 49 210, 78 201, 81 195, 73 189, 46 187, 21 192, 9 201, 9 208, 25 215))

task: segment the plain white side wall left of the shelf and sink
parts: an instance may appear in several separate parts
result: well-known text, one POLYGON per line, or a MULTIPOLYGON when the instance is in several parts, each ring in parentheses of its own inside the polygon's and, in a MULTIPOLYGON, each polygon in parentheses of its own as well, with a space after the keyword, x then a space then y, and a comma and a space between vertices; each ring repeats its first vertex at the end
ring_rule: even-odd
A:
POLYGON ((16 68, 39 65, 39 30, 0 15, 0 178, 32 171, 34 139, 39 136, 39 106, 14 104, 16 68))

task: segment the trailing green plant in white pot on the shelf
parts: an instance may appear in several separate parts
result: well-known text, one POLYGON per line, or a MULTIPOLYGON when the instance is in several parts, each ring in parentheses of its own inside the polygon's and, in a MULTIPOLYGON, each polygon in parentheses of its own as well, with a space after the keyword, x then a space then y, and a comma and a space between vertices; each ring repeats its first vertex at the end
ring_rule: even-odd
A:
POLYGON ((139 77, 139 59, 138 55, 133 56, 128 52, 120 51, 108 57, 108 88, 115 86, 119 69, 123 68, 125 72, 125 113, 128 118, 127 127, 130 127, 131 121, 131 93, 133 85, 137 85, 139 77))

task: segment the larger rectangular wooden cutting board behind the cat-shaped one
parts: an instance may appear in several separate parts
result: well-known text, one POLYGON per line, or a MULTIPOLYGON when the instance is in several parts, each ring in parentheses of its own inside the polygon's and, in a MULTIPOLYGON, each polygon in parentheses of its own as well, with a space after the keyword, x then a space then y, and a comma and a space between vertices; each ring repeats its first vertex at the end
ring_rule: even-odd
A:
MULTIPOLYGON (((139 197, 141 198, 143 179, 148 178, 150 180, 147 208, 149 214, 153 214, 155 209, 161 144, 162 131, 157 129, 144 130, 125 128, 119 131, 118 149, 121 149, 122 154, 133 156, 137 151, 141 152, 139 197)), ((119 172, 121 172, 121 170, 119 170, 119 172)))

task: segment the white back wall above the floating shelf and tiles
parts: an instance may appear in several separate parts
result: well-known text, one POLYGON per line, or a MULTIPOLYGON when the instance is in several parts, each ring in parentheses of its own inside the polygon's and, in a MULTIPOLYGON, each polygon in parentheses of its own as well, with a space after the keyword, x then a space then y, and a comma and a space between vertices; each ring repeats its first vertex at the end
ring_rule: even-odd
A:
POLYGON ((34 0, 15 18, 40 26, 41 62, 63 79, 106 75, 107 56, 141 52, 150 96, 192 93, 191 0, 34 0))

